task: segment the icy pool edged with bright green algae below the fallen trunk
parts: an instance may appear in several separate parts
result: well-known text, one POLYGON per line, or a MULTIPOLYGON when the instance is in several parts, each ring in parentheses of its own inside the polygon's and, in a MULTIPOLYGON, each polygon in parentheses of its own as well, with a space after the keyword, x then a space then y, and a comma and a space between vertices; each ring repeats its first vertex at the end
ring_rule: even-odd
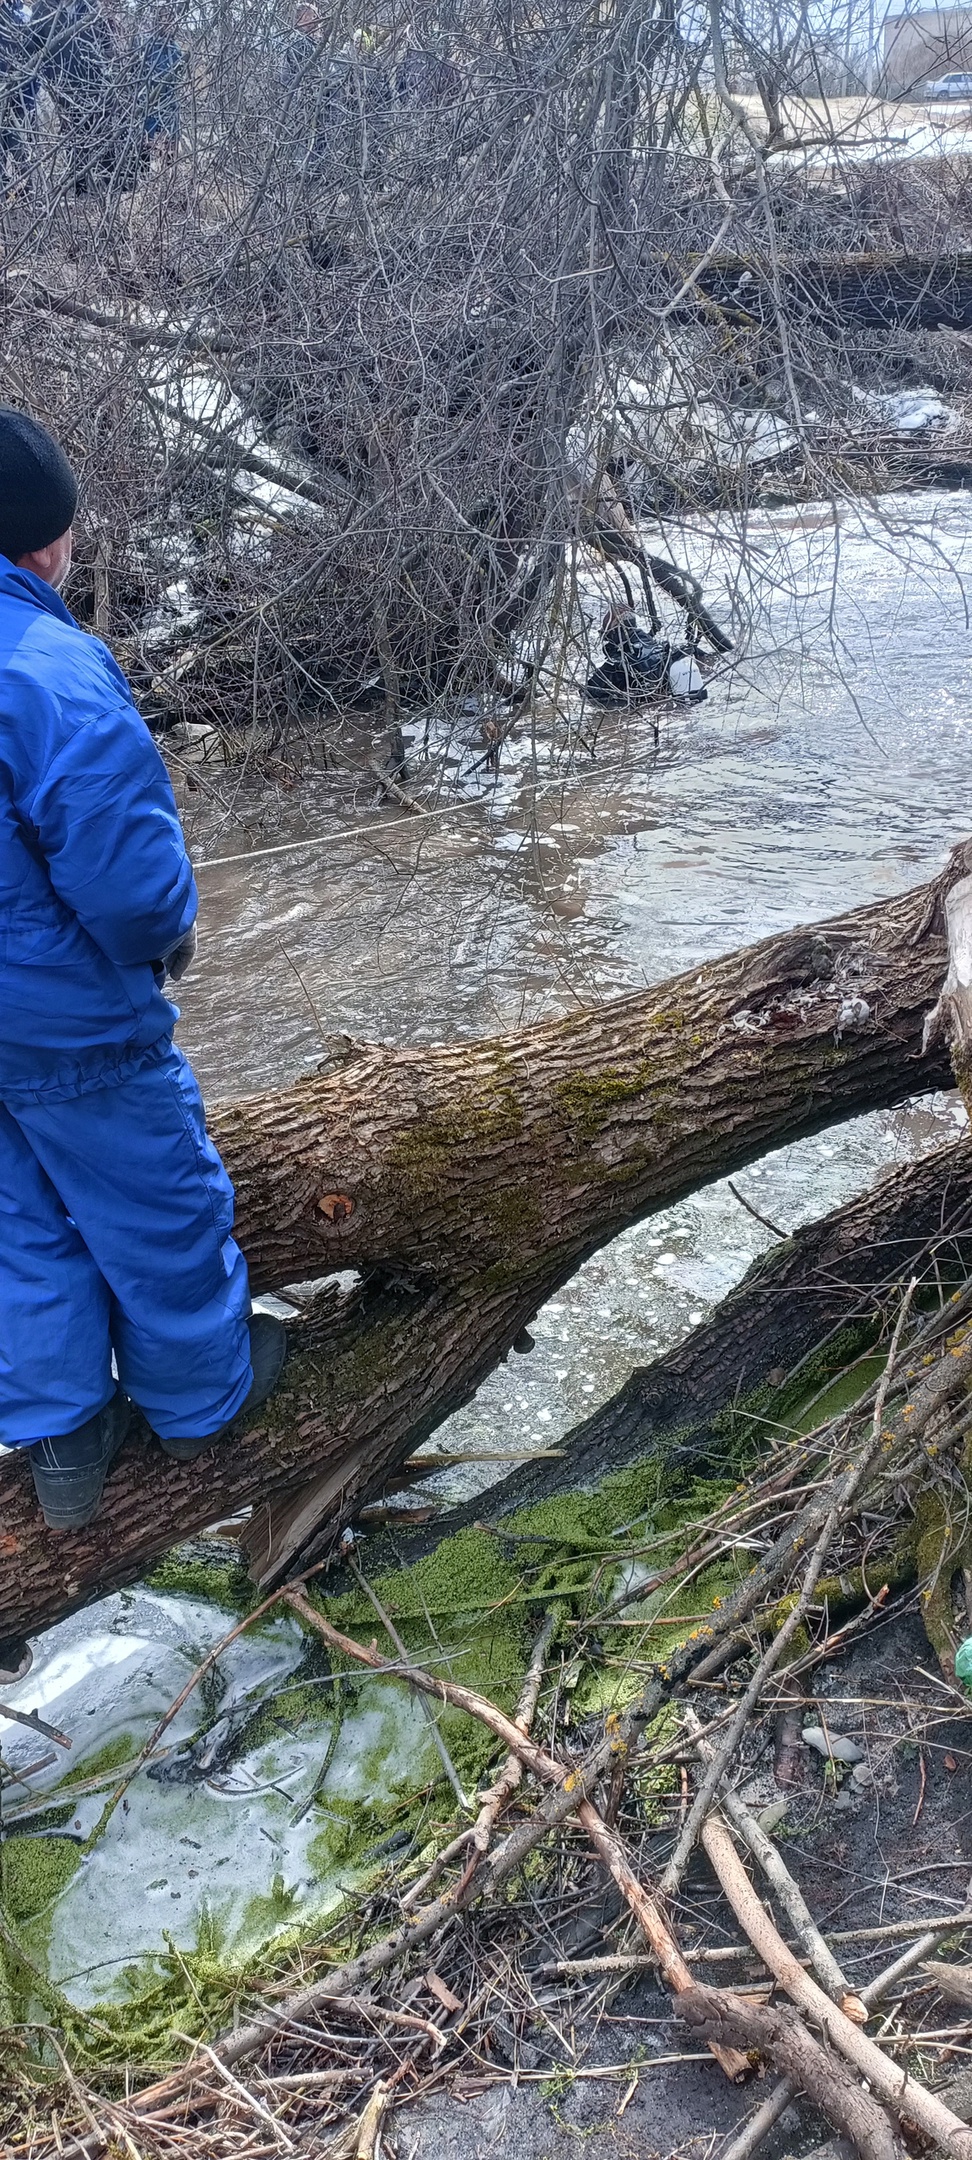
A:
MULTIPOLYGON (((860 1359, 862 1344, 840 1350, 860 1359)), ((827 1372, 804 1372, 806 1395, 834 1385, 834 1363, 832 1344, 827 1372)), ((858 1382, 866 1385, 860 1365, 858 1382)), ((559 1493, 523 1508, 499 1527, 464 1527, 408 1566, 382 1562, 372 1592, 408 1655, 510 1713, 542 1616, 553 1611, 551 1661, 572 1724, 622 1711, 642 1689, 646 1668, 663 1663, 750 1568, 752 1555, 728 1551, 685 1583, 674 1575, 644 1588, 698 1542, 758 1460, 765 1419, 773 1419, 780 1398, 769 1393, 762 1402, 750 1417, 750 1406, 739 1406, 732 1430, 719 1434, 719 1460, 708 1475, 689 1477, 685 1464, 652 1456, 588 1493, 559 1493), (609 1605, 613 1611, 598 1620, 609 1605)), ((216 1607, 253 1605, 235 1560, 199 1551, 173 1555, 153 1577, 153 1594, 216 1601, 216 1607)), ((318 1579, 309 1594, 335 1626, 376 1639, 389 1663, 397 1661, 395 1642, 361 1583, 346 1581, 328 1596, 318 1579)), ((259 1622, 255 1633, 264 1631, 259 1622)), ((82 1868, 69 1840, 60 1849, 56 1838, 11 1840, 37 1855, 11 1860, 26 1955, 52 1974, 80 1974, 82 1994, 67 2022, 60 2020, 78 2061, 108 2067, 127 2058, 160 2069, 177 2061, 177 2033, 212 2033, 231 2022, 257 1983, 285 1983, 341 1959, 359 1940, 361 1894, 389 1875, 397 1886, 415 1879, 454 1834, 443 1767, 406 1683, 324 1652, 318 1637, 294 1624, 289 1670, 255 1685, 268 1668, 259 1659, 248 1663, 257 1642, 251 1650, 246 1642, 244 1635, 233 1652, 235 1683, 225 1689, 220 1668, 218 1685, 205 1698, 201 1691, 197 1704, 197 1739, 216 1732, 227 1709, 233 1713, 212 1773, 201 1773, 184 1745, 181 1782, 171 1765, 158 1782, 136 1780, 127 1817, 114 1814, 82 1868), (112 1909, 123 1871, 138 1916, 127 1935, 112 1909), (121 1955, 104 1976, 84 1979, 91 1957, 82 1946, 99 1914, 114 1929, 110 1948, 121 1955)), ((475 1791, 495 1773, 499 1743, 454 1706, 436 1706, 434 1715, 464 1788, 475 1791)), ((130 1760, 147 1730, 112 1734, 71 1776, 82 1784, 93 1765, 130 1760)), ((672 1765, 652 1760, 672 1732, 667 1709, 631 1760, 631 1788, 648 1821, 659 1819, 672 1791, 672 1765)), ((50 1808, 69 1797, 65 1780, 45 1795, 50 1808)), ((56 1827, 50 1812, 45 1821, 56 1827)), ((536 1864, 544 1864, 542 1855, 536 1864)), ((65 1987, 78 1996, 76 1981, 65 1987)), ((24 2004, 15 1959, 6 1959, 11 1989, 24 2004)))

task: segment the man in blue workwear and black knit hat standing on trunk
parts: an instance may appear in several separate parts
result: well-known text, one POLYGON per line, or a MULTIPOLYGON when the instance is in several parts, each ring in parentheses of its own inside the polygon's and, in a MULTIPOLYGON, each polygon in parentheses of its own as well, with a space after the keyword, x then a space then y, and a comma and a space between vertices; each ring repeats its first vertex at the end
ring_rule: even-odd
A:
POLYGON ((162 985, 197 948, 175 797, 58 598, 76 503, 48 430, 0 406, 0 1443, 52 1529, 95 1514, 130 1400, 188 1462, 285 1356, 173 1045, 162 985))

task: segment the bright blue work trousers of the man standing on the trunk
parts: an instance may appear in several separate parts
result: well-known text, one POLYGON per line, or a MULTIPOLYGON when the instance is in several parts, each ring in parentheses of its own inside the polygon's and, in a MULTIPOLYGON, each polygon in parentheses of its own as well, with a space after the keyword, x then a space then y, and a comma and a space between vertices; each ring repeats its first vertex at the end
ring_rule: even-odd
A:
POLYGON ((162 1439, 251 1385, 233 1186, 173 1043, 117 1086, 0 1104, 0 1443, 71 1432, 121 1387, 162 1439))

